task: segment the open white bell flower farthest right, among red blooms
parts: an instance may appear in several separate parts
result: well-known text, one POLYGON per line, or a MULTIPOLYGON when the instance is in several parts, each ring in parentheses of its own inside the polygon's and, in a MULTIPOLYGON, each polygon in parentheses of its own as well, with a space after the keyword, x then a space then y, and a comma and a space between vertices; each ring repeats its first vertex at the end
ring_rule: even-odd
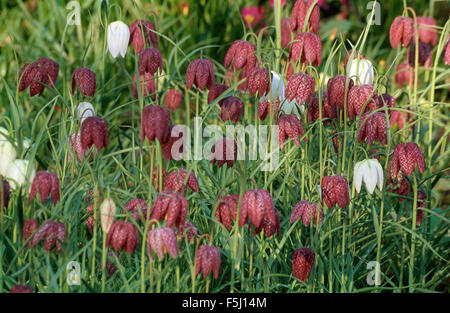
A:
POLYGON ((355 164, 353 183, 358 193, 361 191, 363 180, 370 194, 373 193, 377 185, 378 189, 383 189, 383 168, 377 159, 368 159, 355 164))

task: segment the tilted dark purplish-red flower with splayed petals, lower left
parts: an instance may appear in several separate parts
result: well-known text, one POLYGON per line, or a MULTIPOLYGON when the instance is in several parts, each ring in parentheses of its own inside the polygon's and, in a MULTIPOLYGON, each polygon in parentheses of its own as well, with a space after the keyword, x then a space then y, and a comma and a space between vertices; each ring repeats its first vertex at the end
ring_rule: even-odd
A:
POLYGON ((58 254, 62 252, 61 243, 64 242, 66 237, 66 227, 63 223, 47 221, 41 226, 41 228, 36 232, 33 239, 31 240, 31 245, 35 247, 44 238, 44 250, 50 251, 56 246, 56 251, 58 254))

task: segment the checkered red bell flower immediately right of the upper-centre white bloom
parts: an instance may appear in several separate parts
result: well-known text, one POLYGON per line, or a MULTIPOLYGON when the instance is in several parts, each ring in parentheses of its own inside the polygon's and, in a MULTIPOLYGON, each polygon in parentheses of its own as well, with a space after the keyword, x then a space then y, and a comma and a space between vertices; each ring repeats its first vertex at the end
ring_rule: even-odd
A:
POLYGON ((285 96, 288 101, 295 100, 298 105, 311 103, 314 98, 314 78, 308 74, 299 72, 292 74, 288 81, 285 90, 285 96))

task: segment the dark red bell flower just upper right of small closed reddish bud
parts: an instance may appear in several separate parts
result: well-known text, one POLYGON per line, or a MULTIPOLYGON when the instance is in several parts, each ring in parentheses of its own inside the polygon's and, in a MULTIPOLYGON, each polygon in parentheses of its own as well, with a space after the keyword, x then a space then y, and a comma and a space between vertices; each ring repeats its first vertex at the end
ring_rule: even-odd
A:
POLYGON ((191 89, 192 84, 198 89, 214 87, 214 66, 210 60, 197 59, 189 63, 186 71, 186 88, 191 89))

